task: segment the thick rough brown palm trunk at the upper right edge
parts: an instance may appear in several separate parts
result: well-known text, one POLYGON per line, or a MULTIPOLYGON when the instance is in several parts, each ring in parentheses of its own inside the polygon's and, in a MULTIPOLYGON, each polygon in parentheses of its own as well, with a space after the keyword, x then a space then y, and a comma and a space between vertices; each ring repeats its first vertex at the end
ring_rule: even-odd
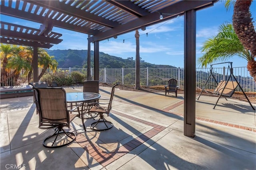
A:
MULTIPOLYGON (((256 31, 252 22, 250 5, 252 0, 237 0, 234 6, 233 27, 236 35, 245 49, 249 50, 252 58, 256 57, 256 31)), ((248 61, 247 69, 256 82, 256 61, 248 61)))

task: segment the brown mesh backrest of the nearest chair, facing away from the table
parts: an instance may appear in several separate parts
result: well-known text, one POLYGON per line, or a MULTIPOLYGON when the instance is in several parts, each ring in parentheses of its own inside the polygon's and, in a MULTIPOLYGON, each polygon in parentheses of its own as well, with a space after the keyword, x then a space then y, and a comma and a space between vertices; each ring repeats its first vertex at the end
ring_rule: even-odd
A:
POLYGON ((36 88, 39 127, 69 127, 69 112, 66 104, 66 91, 63 88, 36 88))

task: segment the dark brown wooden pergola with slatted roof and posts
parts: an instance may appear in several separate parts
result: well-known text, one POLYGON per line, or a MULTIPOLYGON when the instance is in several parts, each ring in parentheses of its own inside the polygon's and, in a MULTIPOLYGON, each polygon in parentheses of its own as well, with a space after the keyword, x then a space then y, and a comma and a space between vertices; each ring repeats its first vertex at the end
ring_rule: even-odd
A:
MULTIPOLYGON (((195 136, 196 11, 216 0, 1 0, 0 13, 41 23, 30 28, 1 21, 1 43, 50 48, 62 35, 60 27, 90 35, 94 43, 94 80, 99 80, 99 42, 145 29, 184 15, 184 135, 195 136), (160 17, 163 16, 163 17, 160 17)), ((38 82, 37 57, 33 59, 34 82, 38 82)))

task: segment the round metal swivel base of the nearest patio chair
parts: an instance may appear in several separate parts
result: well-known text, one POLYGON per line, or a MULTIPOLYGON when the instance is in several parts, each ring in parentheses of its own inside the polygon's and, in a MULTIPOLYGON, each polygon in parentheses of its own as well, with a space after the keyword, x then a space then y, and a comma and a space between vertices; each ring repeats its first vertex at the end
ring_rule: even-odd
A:
POLYGON ((60 148, 60 147, 64 147, 66 145, 69 145, 70 143, 72 143, 74 140, 76 139, 76 134, 72 133, 72 132, 66 132, 64 131, 63 128, 56 128, 54 134, 48 136, 46 139, 44 139, 43 145, 46 148, 60 148), (64 135, 61 135, 64 134, 64 135), (61 141, 59 141, 60 145, 54 145, 56 144, 56 139, 57 137, 61 137, 61 136, 65 136, 65 139, 60 139, 61 141), (52 140, 50 139, 54 139, 54 141, 52 142, 52 140), (68 141, 68 139, 70 139, 70 141, 68 141), (68 141, 68 142, 66 142, 68 141), (47 143, 52 143, 51 145, 47 145, 47 143), (62 143, 62 144, 61 144, 62 143))

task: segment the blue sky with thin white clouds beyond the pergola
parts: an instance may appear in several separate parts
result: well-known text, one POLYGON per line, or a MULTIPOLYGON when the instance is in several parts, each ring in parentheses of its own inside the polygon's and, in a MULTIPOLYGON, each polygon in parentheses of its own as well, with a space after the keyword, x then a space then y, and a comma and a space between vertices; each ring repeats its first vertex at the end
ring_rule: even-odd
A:
MULTIPOLYGON (((256 1, 250 6, 254 27, 256 27, 256 1)), ((218 1, 214 6, 196 12, 196 58, 202 56, 200 47, 202 43, 216 35, 219 25, 232 21, 233 7, 227 12, 224 1, 218 1)), ((1 21, 22 24, 28 27, 39 28, 40 23, 33 23, 16 18, 1 15, 1 21)), ((87 35, 54 27, 52 31, 62 33, 63 41, 54 45, 54 49, 87 49, 87 35)), ((184 17, 180 16, 173 20, 164 21, 140 32, 140 57, 152 64, 167 64, 184 68, 184 17), (148 33, 148 36, 146 36, 148 33)), ((136 55, 135 31, 119 35, 117 39, 111 38, 100 41, 100 52, 127 59, 136 55), (124 43, 123 43, 124 40, 124 43)), ((93 50, 93 44, 91 45, 93 50)), ((229 60, 233 67, 246 66, 244 59, 233 57, 229 60)), ((198 67, 198 66, 197 66, 198 67)))

